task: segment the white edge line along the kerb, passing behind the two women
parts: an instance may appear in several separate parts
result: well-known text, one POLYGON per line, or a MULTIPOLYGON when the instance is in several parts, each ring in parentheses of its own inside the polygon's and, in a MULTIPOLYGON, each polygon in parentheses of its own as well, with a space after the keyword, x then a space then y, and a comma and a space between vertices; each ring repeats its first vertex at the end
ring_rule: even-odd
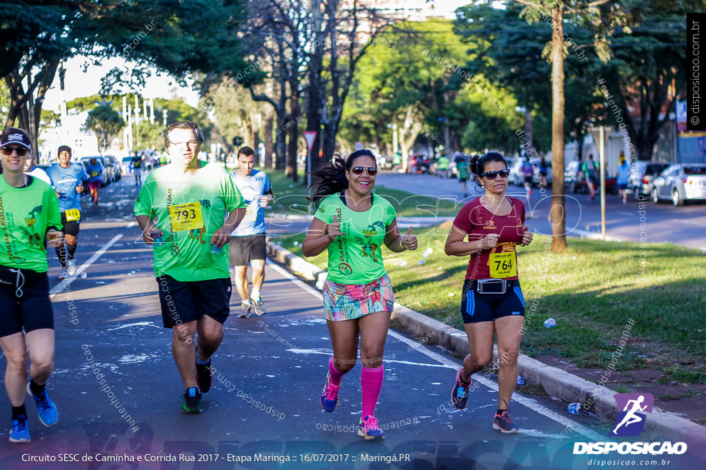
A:
MULTIPOLYGON (((301 287, 303 290, 306 290, 306 292, 309 292, 314 297, 317 297, 318 299, 323 300, 323 295, 321 295, 321 292, 318 292, 318 290, 313 289, 313 287, 301 282, 301 280, 297 279, 289 271, 286 271, 284 268, 281 268, 280 266, 277 266, 276 264, 271 263, 269 260, 267 261, 267 264, 270 267, 274 268, 275 271, 282 274, 282 276, 285 276, 285 278, 292 280, 292 283, 294 283, 294 285, 301 287)), ((445 357, 441 354, 438 354, 437 352, 430 351, 426 347, 420 345, 418 342, 416 342, 414 340, 410 340, 409 338, 405 338, 404 336, 400 335, 400 333, 397 333, 396 331, 389 330, 388 335, 395 338, 395 340, 404 342, 409 347, 414 348, 414 350, 421 352, 421 354, 424 354, 427 357, 430 357, 431 359, 439 362, 440 364, 443 364, 443 367, 457 371, 460 366, 460 364, 452 361, 451 359, 448 359, 448 357, 445 357)), ((299 351, 299 350, 297 350, 297 351, 299 351)), ((301 351, 304 351, 304 350, 301 350, 301 351)), ((309 351, 309 350, 306 350, 306 351, 309 351)), ((312 354, 321 354, 321 352, 314 351, 314 350, 312 350, 311 353, 312 354)), ((388 362, 390 362, 390 361, 388 361, 388 362)), ((425 365, 428 365, 428 364, 425 364, 425 365)), ((485 385, 487 388, 489 388, 495 392, 498 391, 498 385, 496 383, 493 383, 492 381, 487 380, 483 376, 479 376, 478 374, 475 374, 473 376, 473 380, 478 381, 479 383, 485 385)), ((569 419, 566 416, 562 416, 561 414, 558 414, 556 412, 551 411, 551 409, 545 407, 544 405, 540 404, 539 402, 532 400, 531 398, 527 398, 527 397, 522 396, 519 393, 515 392, 515 394, 513 395, 513 400, 519 404, 524 405, 525 407, 527 407, 529 409, 532 409, 532 411, 536 412, 540 416, 545 416, 546 418, 549 418, 552 421, 556 421, 556 423, 561 424, 561 426, 563 426, 563 428, 572 429, 573 431, 580 433, 582 435, 585 435, 587 438, 590 438, 593 440, 604 439, 604 436, 592 431, 590 428, 587 428, 586 426, 583 426, 580 423, 576 423, 575 421, 572 421, 571 419, 569 419)), ((522 433, 524 433, 524 432, 525 432, 525 430, 523 429, 522 433)))

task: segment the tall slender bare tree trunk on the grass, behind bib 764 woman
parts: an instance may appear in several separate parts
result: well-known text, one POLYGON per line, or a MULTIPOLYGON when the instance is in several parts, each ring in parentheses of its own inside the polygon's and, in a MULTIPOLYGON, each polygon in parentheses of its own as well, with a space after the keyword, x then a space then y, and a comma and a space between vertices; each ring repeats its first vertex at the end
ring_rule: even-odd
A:
MULTIPOLYGON (((564 195, 564 41, 563 6, 551 11, 551 251, 566 249, 566 201, 564 195)), ((532 211, 532 208, 530 208, 532 211)))

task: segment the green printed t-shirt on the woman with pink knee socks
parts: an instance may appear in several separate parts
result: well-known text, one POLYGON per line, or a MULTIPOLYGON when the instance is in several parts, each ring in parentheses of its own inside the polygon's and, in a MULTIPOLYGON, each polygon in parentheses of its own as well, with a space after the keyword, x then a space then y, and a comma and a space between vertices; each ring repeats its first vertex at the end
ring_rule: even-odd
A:
POLYGON ((344 235, 328 245, 328 278, 339 284, 367 284, 387 273, 381 247, 395 208, 373 194, 373 206, 365 212, 348 209, 340 194, 329 196, 314 217, 324 223, 338 221, 344 235))

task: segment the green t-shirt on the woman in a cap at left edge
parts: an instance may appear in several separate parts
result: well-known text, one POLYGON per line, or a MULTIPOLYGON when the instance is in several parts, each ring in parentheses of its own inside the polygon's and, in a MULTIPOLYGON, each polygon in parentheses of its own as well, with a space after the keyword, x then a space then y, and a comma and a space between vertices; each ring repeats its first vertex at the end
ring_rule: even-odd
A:
POLYGON ((37 178, 28 187, 11 187, 0 175, 0 264, 46 273, 44 235, 50 227, 62 227, 52 187, 37 178))

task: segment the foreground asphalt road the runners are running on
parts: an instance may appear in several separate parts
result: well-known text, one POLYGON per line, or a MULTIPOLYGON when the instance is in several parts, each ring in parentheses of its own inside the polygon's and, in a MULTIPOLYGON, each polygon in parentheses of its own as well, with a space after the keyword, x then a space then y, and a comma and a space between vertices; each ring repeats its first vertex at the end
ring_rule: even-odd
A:
MULTIPOLYGON (((44 428, 28 399, 32 442, 0 439, 0 468, 588 469, 597 456, 574 456, 573 443, 608 440, 609 423, 572 416, 549 397, 519 394, 511 412, 520 433, 494 431, 494 376, 474 376, 481 385, 457 411, 449 398, 460 360, 395 330, 376 410, 387 439, 361 440, 354 433, 360 366, 345 376, 336 411, 323 412, 318 396, 331 351, 321 295, 275 264, 268 264, 263 287, 268 314, 227 320, 204 412, 181 414, 171 332, 161 326, 152 253, 131 216, 136 188, 129 183, 111 185, 99 206, 85 208, 77 252, 85 278, 56 280, 59 264, 49 255, 56 317, 49 390, 59 423, 44 428)), ((238 304, 236 294, 231 306, 238 304)), ((4 393, 0 406, 9 424, 4 393)), ((647 438, 659 440, 639 439, 647 438)), ((669 464, 644 468, 702 464, 689 452, 666 458, 669 464)))

